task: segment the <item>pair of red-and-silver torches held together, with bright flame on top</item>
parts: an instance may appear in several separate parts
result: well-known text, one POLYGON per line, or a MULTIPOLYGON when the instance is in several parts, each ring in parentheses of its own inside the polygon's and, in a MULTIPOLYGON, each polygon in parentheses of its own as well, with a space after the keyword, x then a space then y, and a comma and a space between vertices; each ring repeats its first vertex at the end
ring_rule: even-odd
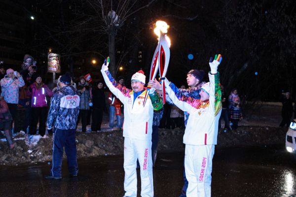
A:
MULTIPOLYGON (((169 26, 164 21, 157 21, 156 22, 156 28, 154 29, 154 33, 158 35, 159 42, 155 49, 151 68, 150 68, 150 75, 149 75, 149 81, 154 80, 157 74, 157 70, 159 70, 159 76, 161 79, 161 90, 162 90, 162 101, 163 104, 165 103, 165 84, 164 79, 165 75, 168 70, 169 61, 170 61, 170 38, 166 35, 167 29, 169 26)), ((149 87, 147 88, 147 93, 145 95, 144 99, 144 105, 146 103, 146 100, 148 98, 149 94, 149 87)))

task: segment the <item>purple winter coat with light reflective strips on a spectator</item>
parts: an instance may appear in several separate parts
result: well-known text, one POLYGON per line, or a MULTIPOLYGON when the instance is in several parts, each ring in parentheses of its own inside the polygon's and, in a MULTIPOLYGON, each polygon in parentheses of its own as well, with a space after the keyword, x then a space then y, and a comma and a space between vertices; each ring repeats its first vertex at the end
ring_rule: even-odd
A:
POLYGON ((30 85, 27 95, 32 97, 32 107, 46 107, 46 96, 52 97, 53 92, 45 84, 43 84, 41 88, 37 89, 36 83, 33 83, 30 85))

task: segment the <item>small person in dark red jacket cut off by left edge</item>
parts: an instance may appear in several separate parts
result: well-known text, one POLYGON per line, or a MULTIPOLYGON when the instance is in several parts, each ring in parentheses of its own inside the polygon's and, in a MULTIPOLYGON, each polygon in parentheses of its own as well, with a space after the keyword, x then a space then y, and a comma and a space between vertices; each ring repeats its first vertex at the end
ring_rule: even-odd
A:
POLYGON ((7 144, 10 149, 13 149, 15 142, 12 139, 11 121, 8 105, 4 99, 0 98, 0 130, 5 132, 7 144))

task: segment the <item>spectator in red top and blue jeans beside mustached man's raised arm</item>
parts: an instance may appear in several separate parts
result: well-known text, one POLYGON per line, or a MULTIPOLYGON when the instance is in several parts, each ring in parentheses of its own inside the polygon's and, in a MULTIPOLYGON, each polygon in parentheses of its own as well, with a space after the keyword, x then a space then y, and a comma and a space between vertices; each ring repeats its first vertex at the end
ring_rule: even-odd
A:
POLYGON ((118 129, 121 129, 121 120, 120 120, 120 114, 121 114, 121 105, 119 99, 117 99, 111 92, 108 94, 108 103, 109 103, 109 127, 114 127, 114 115, 116 116, 116 125, 118 129), (115 110, 116 109, 116 110, 115 110))

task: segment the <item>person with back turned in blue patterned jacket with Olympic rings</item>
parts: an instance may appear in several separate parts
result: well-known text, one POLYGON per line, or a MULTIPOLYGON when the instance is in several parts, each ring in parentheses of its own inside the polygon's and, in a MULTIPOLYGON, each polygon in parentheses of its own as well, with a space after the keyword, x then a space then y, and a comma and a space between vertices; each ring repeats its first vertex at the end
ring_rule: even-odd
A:
POLYGON ((75 142, 76 121, 79 113, 79 96, 71 85, 67 74, 60 78, 61 89, 51 99, 46 126, 54 127, 52 167, 46 179, 62 178, 62 159, 65 147, 70 176, 78 174, 77 149, 75 142))

